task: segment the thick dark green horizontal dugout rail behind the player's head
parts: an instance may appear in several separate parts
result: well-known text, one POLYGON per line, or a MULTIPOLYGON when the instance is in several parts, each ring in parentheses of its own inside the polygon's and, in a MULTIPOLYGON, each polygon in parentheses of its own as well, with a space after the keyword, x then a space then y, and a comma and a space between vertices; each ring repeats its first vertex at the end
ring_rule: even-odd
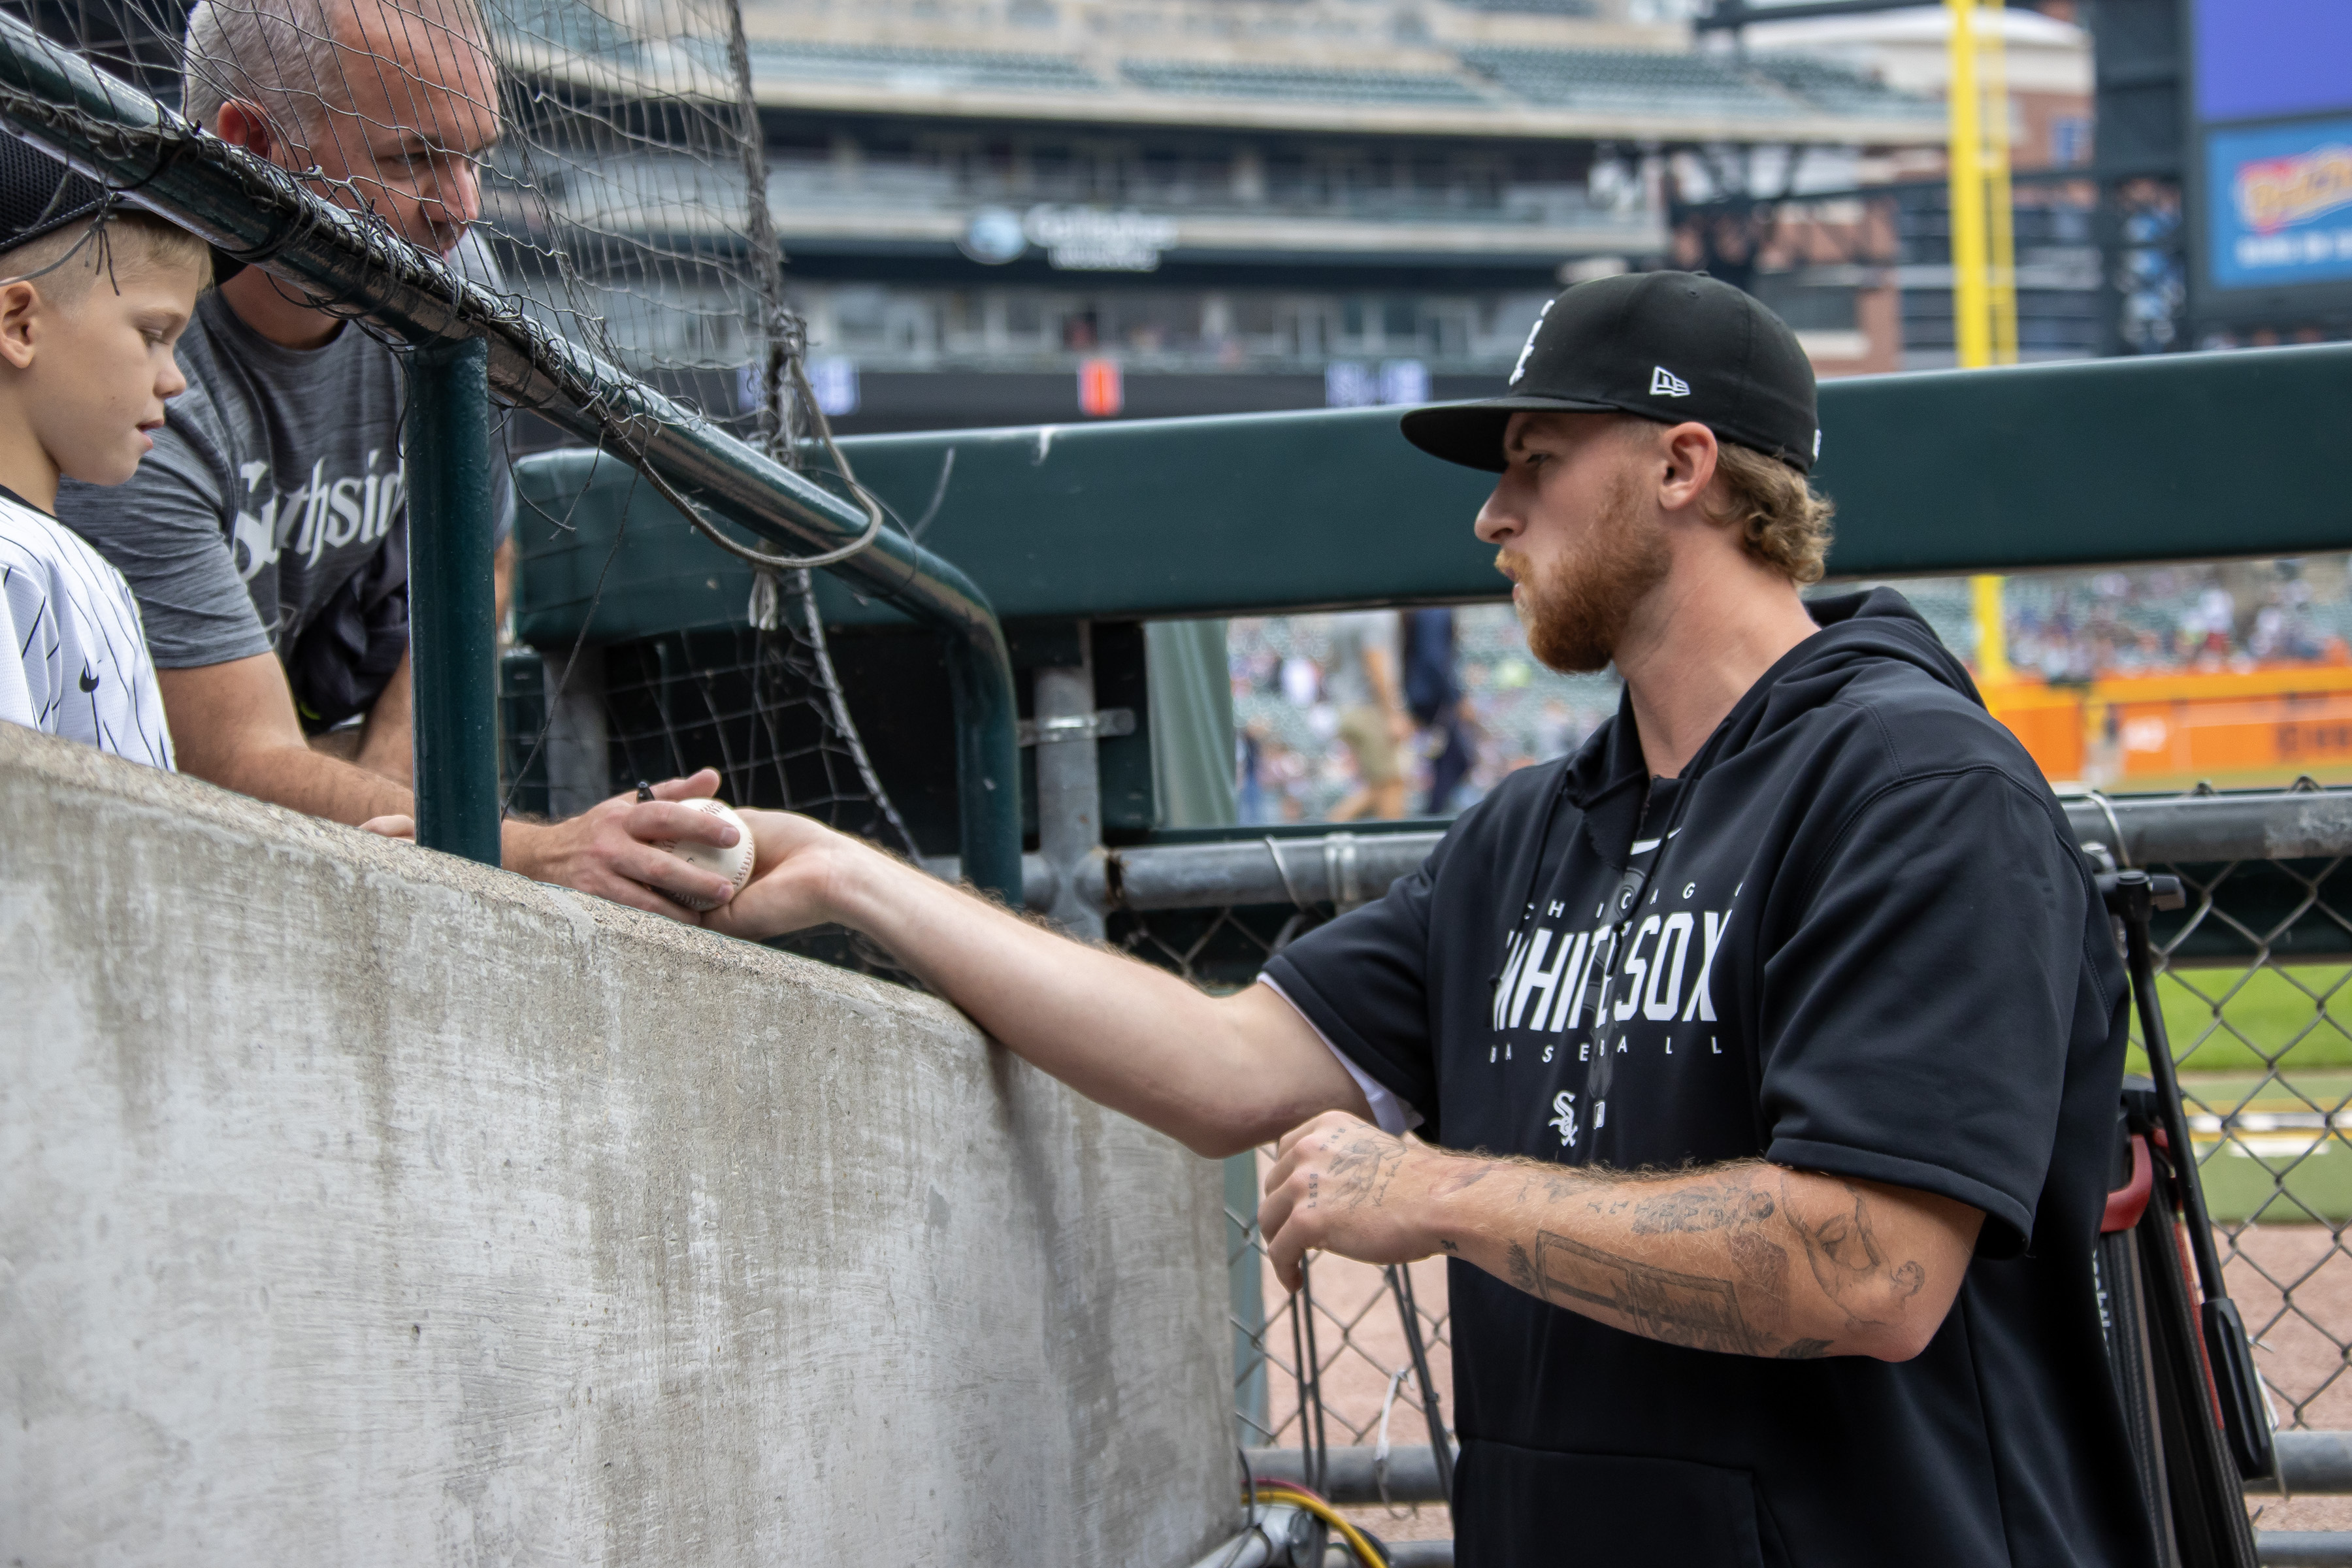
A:
MULTIPOLYGON (((2312 430, 2352 402, 2352 343, 1828 381, 1818 487, 1832 576, 2027 571, 2352 548, 2312 430)), ((1491 475, 1439 463, 1397 409, 1317 409, 844 440, 929 520, 1007 621, 1284 614, 1501 599, 1470 534, 1491 475), (1011 527, 1009 520, 1018 520, 1011 527)), ((701 625, 748 569, 687 529, 635 538, 600 621, 701 625)), ((894 621, 821 583, 828 625, 894 621)), ((560 616, 546 623, 555 637, 560 616)))

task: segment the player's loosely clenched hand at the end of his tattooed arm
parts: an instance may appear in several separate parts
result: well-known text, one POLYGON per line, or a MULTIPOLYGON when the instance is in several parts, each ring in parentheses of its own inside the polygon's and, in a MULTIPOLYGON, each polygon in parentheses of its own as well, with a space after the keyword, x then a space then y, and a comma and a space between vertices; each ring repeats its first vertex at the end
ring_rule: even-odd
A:
POLYGON ((1444 1251, 1428 1197, 1461 1182, 1461 1166, 1423 1143, 1331 1110, 1291 1128, 1265 1173, 1258 1229, 1282 1288, 1298 1288, 1308 1248, 1357 1262, 1414 1262, 1444 1251))

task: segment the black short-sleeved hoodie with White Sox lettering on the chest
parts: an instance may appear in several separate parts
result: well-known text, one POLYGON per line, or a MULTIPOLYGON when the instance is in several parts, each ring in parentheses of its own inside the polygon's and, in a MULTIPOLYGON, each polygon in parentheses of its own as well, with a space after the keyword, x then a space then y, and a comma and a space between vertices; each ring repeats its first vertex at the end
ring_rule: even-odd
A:
POLYGON ((1432 1143, 1985 1213, 1905 1363, 1684 1349, 1456 1262, 1465 1568, 2152 1561, 2091 1274, 2126 1016, 2091 867, 1900 595, 1809 609, 1679 780, 1621 708, 1268 964, 1432 1143))

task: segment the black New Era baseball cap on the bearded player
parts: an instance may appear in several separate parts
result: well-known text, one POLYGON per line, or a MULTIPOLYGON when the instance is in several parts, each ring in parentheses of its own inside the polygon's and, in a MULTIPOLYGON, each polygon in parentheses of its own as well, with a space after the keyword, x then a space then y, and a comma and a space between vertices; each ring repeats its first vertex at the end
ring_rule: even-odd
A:
POLYGON ((1414 409, 1404 440, 1449 463, 1503 473, 1510 416, 1562 409, 1696 418, 1717 440, 1797 473, 1811 473, 1820 456, 1813 362, 1797 334, 1705 273, 1621 273, 1576 284, 1536 317, 1505 395, 1414 409))

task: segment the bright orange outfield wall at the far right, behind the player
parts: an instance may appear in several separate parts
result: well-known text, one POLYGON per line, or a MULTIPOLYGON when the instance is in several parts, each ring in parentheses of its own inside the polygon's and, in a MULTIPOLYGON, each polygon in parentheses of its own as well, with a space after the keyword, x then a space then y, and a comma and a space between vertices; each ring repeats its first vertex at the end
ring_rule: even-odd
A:
POLYGON ((2051 780, 2159 788, 2183 778, 2352 769, 2352 665, 2011 679, 1985 705, 2051 780))

